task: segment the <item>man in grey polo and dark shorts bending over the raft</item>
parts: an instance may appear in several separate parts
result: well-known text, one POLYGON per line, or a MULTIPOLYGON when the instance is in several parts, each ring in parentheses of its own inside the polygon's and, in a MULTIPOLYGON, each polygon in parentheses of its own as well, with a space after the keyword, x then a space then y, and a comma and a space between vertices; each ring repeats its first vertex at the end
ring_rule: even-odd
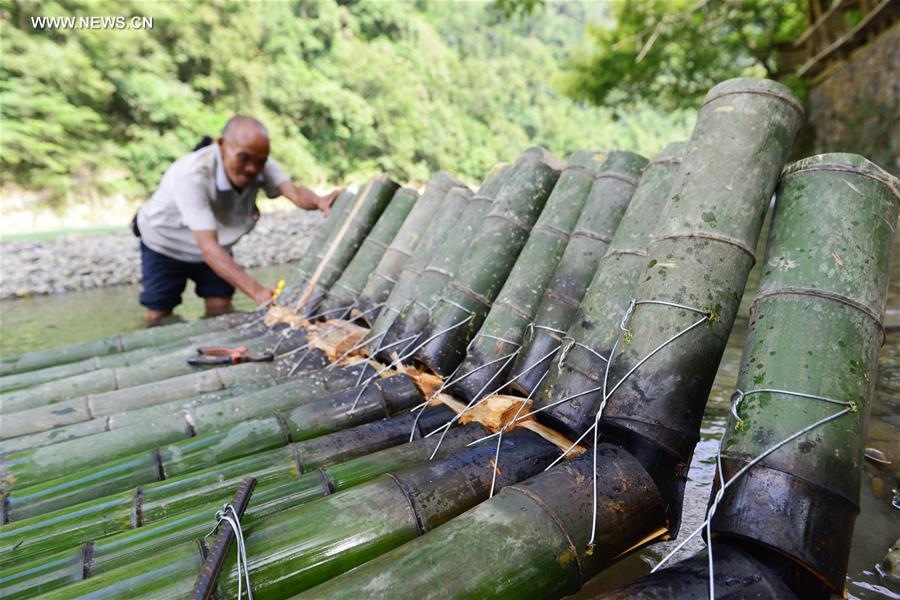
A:
POLYGON ((258 283, 231 256, 231 248, 259 218, 256 193, 286 196, 304 210, 328 213, 339 190, 319 196, 294 185, 269 158, 269 135, 262 123, 232 117, 221 137, 175 161, 159 188, 141 206, 140 302, 147 325, 156 325, 181 304, 188 279, 206 303, 207 316, 231 307, 238 288, 257 305, 272 299, 272 289, 258 283))

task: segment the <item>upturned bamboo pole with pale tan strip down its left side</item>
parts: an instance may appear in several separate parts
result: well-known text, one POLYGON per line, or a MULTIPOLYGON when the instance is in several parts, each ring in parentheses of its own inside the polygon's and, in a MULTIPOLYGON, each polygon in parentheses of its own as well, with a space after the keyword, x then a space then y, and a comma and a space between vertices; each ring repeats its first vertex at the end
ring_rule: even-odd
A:
MULTIPOLYGON (((360 194, 365 193, 363 204, 350 220, 349 227, 344 233, 337 250, 324 263, 322 275, 316 283, 312 294, 304 305, 299 307, 302 314, 311 316, 315 312, 319 302, 322 301, 322 298, 325 297, 325 294, 328 293, 334 282, 340 278, 344 269, 353 260, 363 240, 372 230, 378 217, 387 208, 391 198, 398 189, 400 189, 398 183, 386 177, 375 177, 360 190, 360 194)), ((348 213, 347 217, 349 218, 351 214, 352 211, 348 213)), ((325 258, 324 254, 322 258, 325 258)), ((300 293, 302 294, 303 292, 300 293)), ((299 302, 299 299, 295 300, 295 302, 299 302)))

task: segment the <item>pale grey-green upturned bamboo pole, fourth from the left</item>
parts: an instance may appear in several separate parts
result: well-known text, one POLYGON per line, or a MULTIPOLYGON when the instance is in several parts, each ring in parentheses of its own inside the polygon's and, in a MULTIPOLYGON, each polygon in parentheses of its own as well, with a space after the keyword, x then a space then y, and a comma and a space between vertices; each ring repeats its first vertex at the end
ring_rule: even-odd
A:
POLYGON ((364 322, 369 324, 375 322, 379 305, 387 300, 407 261, 419 252, 425 240, 425 231, 438 215, 444 213, 447 193, 459 185, 456 179, 443 171, 426 184, 422 197, 413 206, 409 216, 384 251, 378 266, 369 275, 362 292, 358 294, 354 314, 363 315, 361 318, 364 322))

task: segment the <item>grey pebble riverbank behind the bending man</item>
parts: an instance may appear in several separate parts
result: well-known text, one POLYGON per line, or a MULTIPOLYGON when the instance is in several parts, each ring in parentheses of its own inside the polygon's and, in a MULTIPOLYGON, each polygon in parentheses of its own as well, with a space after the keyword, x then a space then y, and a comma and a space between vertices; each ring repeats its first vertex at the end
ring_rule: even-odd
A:
MULTIPOLYGON (((234 258, 247 268, 295 261, 322 221, 319 212, 265 213, 254 230, 234 246, 234 258)), ((130 231, 0 243, 0 299, 140 280, 139 241, 130 231)))

